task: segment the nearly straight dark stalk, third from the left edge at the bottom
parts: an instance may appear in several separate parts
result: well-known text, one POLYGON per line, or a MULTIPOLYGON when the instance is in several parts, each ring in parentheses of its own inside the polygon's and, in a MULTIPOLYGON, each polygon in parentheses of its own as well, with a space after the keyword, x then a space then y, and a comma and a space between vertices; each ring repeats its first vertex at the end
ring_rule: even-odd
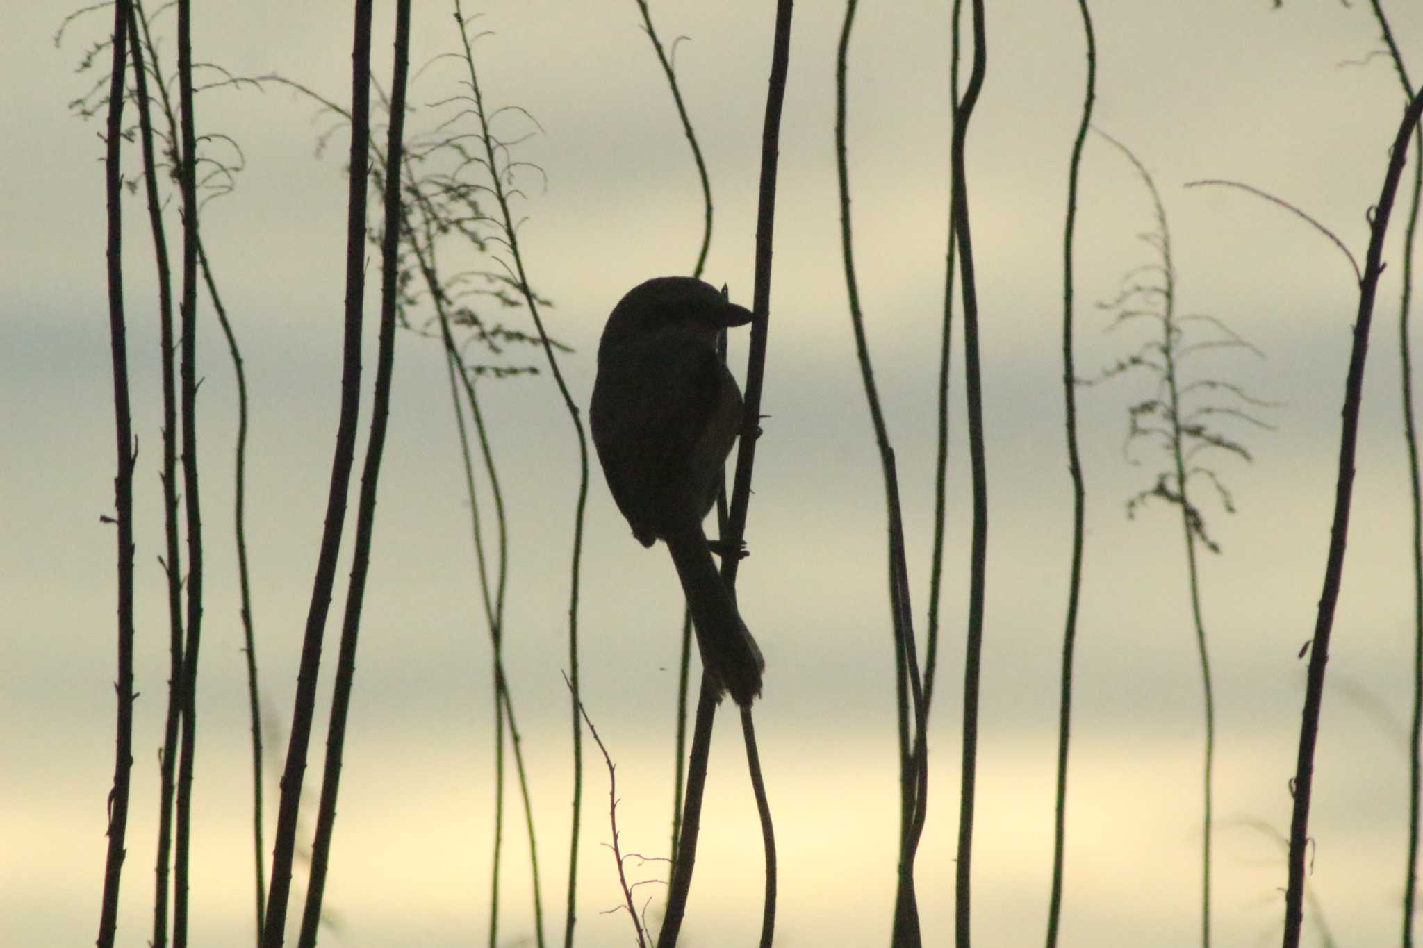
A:
POLYGON ((182 303, 178 360, 182 486, 188 527, 186 638, 182 650, 182 735, 174 839, 174 948, 188 944, 192 776, 198 728, 198 645, 202 637, 202 510, 198 495, 198 142, 192 101, 192 0, 178 0, 178 181, 182 189, 182 303))

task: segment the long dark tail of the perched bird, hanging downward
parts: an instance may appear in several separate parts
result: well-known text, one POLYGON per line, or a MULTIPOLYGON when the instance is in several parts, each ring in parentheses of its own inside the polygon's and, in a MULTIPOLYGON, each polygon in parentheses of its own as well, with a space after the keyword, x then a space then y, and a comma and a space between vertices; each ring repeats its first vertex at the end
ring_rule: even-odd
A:
POLYGON ((717 573, 702 524, 665 539, 692 610, 702 664, 731 692, 736 704, 750 705, 761 694, 766 659, 717 573))

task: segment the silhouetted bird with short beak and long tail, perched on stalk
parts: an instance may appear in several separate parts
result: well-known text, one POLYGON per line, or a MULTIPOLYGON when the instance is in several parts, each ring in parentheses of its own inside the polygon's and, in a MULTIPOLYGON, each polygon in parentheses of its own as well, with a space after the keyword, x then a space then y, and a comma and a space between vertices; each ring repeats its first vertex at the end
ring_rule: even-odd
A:
POLYGON ((741 429, 741 389, 717 355, 721 330, 751 321, 726 287, 655 277, 622 297, 598 344, 589 404, 608 489, 645 547, 672 553, 702 664, 737 705, 761 692, 766 661, 721 581, 702 520, 741 429))

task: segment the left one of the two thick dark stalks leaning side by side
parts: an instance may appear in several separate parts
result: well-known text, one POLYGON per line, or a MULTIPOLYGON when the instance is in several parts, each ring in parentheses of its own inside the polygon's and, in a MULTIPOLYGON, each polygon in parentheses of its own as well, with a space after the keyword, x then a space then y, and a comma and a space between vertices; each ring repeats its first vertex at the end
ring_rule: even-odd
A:
POLYGON ((326 524, 306 614, 292 735, 287 742, 277 804, 276 839, 272 851, 272 888, 268 894, 263 948, 280 948, 286 937, 286 912, 292 894, 292 858, 296 850, 296 817, 306 775, 306 756, 316 712, 316 679, 322 665, 322 638, 332 604, 336 560, 356 455, 356 419, 360 408, 361 306, 366 291, 366 179, 370 168, 370 18, 371 0, 356 0, 351 41, 351 144, 350 195, 346 216, 346 317, 342 347, 342 404, 332 459, 332 483, 326 500, 326 524))

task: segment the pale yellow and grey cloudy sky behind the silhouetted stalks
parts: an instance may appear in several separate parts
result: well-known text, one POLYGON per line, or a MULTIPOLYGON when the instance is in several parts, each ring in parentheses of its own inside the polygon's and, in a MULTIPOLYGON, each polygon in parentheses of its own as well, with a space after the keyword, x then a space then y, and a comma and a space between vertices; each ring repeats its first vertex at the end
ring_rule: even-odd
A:
MULTIPOLYGON (((280 72, 344 101, 349 11, 273 1, 195 11, 195 58, 235 75, 280 72)), ((932 539, 938 321, 948 203, 948 3, 862 4, 851 44, 850 163, 869 343, 899 458, 916 625, 932 539)), ((1060 237, 1067 155, 1084 78, 1074 3, 992 4, 988 82, 969 132, 982 307, 989 577, 983 654, 975 934, 1042 938, 1052 868, 1057 664, 1066 604, 1070 483, 1062 435, 1060 237)), ((1423 71, 1423 14, 1393 4, 1423 71)), ((1348 262, 1232 178, 1331 226, 1362 259, 1400 114, 1397 78, 1366 4, 1100 0, 1096 124, 1154 175, 1170 216, 1183 313, 1229 323, 1265 354, 1201 357, 1201 371, 1275 402, 1274 431, 1231 428, 1252 465, 1224 458, 1238 512, 1202 497, 1220 556, 1202 561, 1217 672, 1220 944, 1269 944, 1282 917, 1303 664, 1332 513, 1338 421, 1355 313, 1348 262)), ((102 144, 67 112, 107 13, 48 41, 63 7, 11 13, 11 135, 0 142, 0 941, 94 937, 112 773, 112 408, 104 298, 102 144)), ((640 280, 686 273, 700 190, 636 6, 491 0, 477 54, 487 98, 538 121, 515 156, 521 240, 564 368, 586 404, 613 303, 640 280)), ((706 276, 750 301, 756 182, 773 4, 659 3, 712 175, 716 235, 706 276)), ((834 53, 841 4, 795 10, 781 139, 766 436, 739 597, 767 659, 757 705, 780 844, 780 944, 879 944, 894 895, 896 762, 884 502, 840 264, 834 53)), ((388 75, 393 9, 377 7, 388 75)), ((172 64, 171 13, 155 24, 172 64)), ((414 58, 457 47, 450 7, 423 3, 414 58)), ((416 129, 455 90, 420 72, 416 129)), ((514 115, 508 118, 515 119, 514 115)), ((252 388, 249 537, 258 651, 280 766, 296 657, 322 527, 336 425, 343 290, 344 132, 285 90, 213 90, 198 128, 245 155, 236 192, 208 205, 205 240, 243 344, 252 388)), ((511 128, 514 128, 511 125, 511 128)), ((125 152, 134 168, 137 155, 125 152)), ((157 318, 142 205, 125 203, 138 503, 138 699, 121 944, 148 938, 157 748, 166 679, 158 466, 157 318)), ((172 216, 176 220, 176 216, 172 216)), ((1079 364, 1140 345, 1104 333, 1121 273, 1151 260, 1151 205, 1126 159, 1089 141, 1079 215, 1079 364)), ((1312 833, 1312 888, 1343 944, 1396 938, 1406 854, 1412 580, 1400 438, 1400 232, 1379 296, 1355 519, 1329 665, 1312 833)), ((451 250, 451 254, 454 252, 451 250)), ((454 260, 454 256, 451 256, 454 260)), ((374 263, 374 257, 373 257, 374 263)), ((477 260, 468 259, 470 264, 477 260)), ((453 266, 453 264, 451 264, 453 266)), ((374 274, 374 267, 371 267, 374 274)), ((370 287, 374 313, 377 287, 370 287)), ((199 325, 199 456, 208 527, 194 836, 194 938, 250 944, 249 722, 229 529, 235 392, 211 313, 199 325)), ((374 341, 374 331, 370 334, 374 341)), ((955 343, 961 351, 961 343, 955 343)), ((744 340, 733 340, 733 364, 744 340)), ((330 944, 465 945, 488 924, 492 830, 490 647, 468 505, 440 352, 404 333, 326 905, 330 944)), ((373 351, 367 367, 374 364, 373 351)), ((369 378, 367 378, 369 381, 369 378)), ((931 803, 919 858, 928 944, 952 931, 969 493, 961 372, 949 465, 931 803)), ((1163 458, 1124 456, 1126 377, 1080 394, 1087 549, 1069 802, 1064 944, 1185 945, 1198 924, 1202 712, 1180 523, 1164 506, 1127 520, 1163 458), (1133 463, 1137 462, 1137 463, 1133 463)), ((507 662, 538 826, 544 915, 561 927, 571 799, 568 557, 576 445, 548 377, 481 382, 511 520, 507 662)), ((369 405, 369 391, 367 391, 369 405)), ((349 551, 349 542, 346 544, 349 551)), ((344 577, 344 567, 340 573, 344 577)), ((337 605, 344 598, 337 586, 337 605)), ((660 549, 633 543, 593 469, 582 590, 585 702, 618 762, 625 849, 667 849, 680 617, 660 549)), ((332 632, 334 638, 334 632, 332 632)), ((329 672, 332 661, 324 671, 329 672)), ((329 685, 329 675, 323 678, 329 685)), ((326 689, 322 701, 324 702, 326 689)), ((713 745, 686 944, 746 944, 760 918, 760 833, 736 728, 713 745)), ((324 733, 324 722, 317 723, 324 733)), ((320 746, 320 739, 313 748, 320 746)), ((605 772, 585 772, 581 944, 625 945, 602 843, 605 772)), ((314 782, 310 783, 314 800, 314 782)), ((275 779, 269 797, 275 802, 275 779)), ((514 806, 515 797, 509 796, 514 806)), ((507 834, 501 944, 532 944, 525 844, 507 834)), ((660 876, 649 864, 646 877, 660 876)), ((645 888, 640 891, 652 893, 645 888)), ((656 905, 653 905, 656 915, 656 905)), ((1308 938, 1319 938, 1311 928, 1308 938)))

